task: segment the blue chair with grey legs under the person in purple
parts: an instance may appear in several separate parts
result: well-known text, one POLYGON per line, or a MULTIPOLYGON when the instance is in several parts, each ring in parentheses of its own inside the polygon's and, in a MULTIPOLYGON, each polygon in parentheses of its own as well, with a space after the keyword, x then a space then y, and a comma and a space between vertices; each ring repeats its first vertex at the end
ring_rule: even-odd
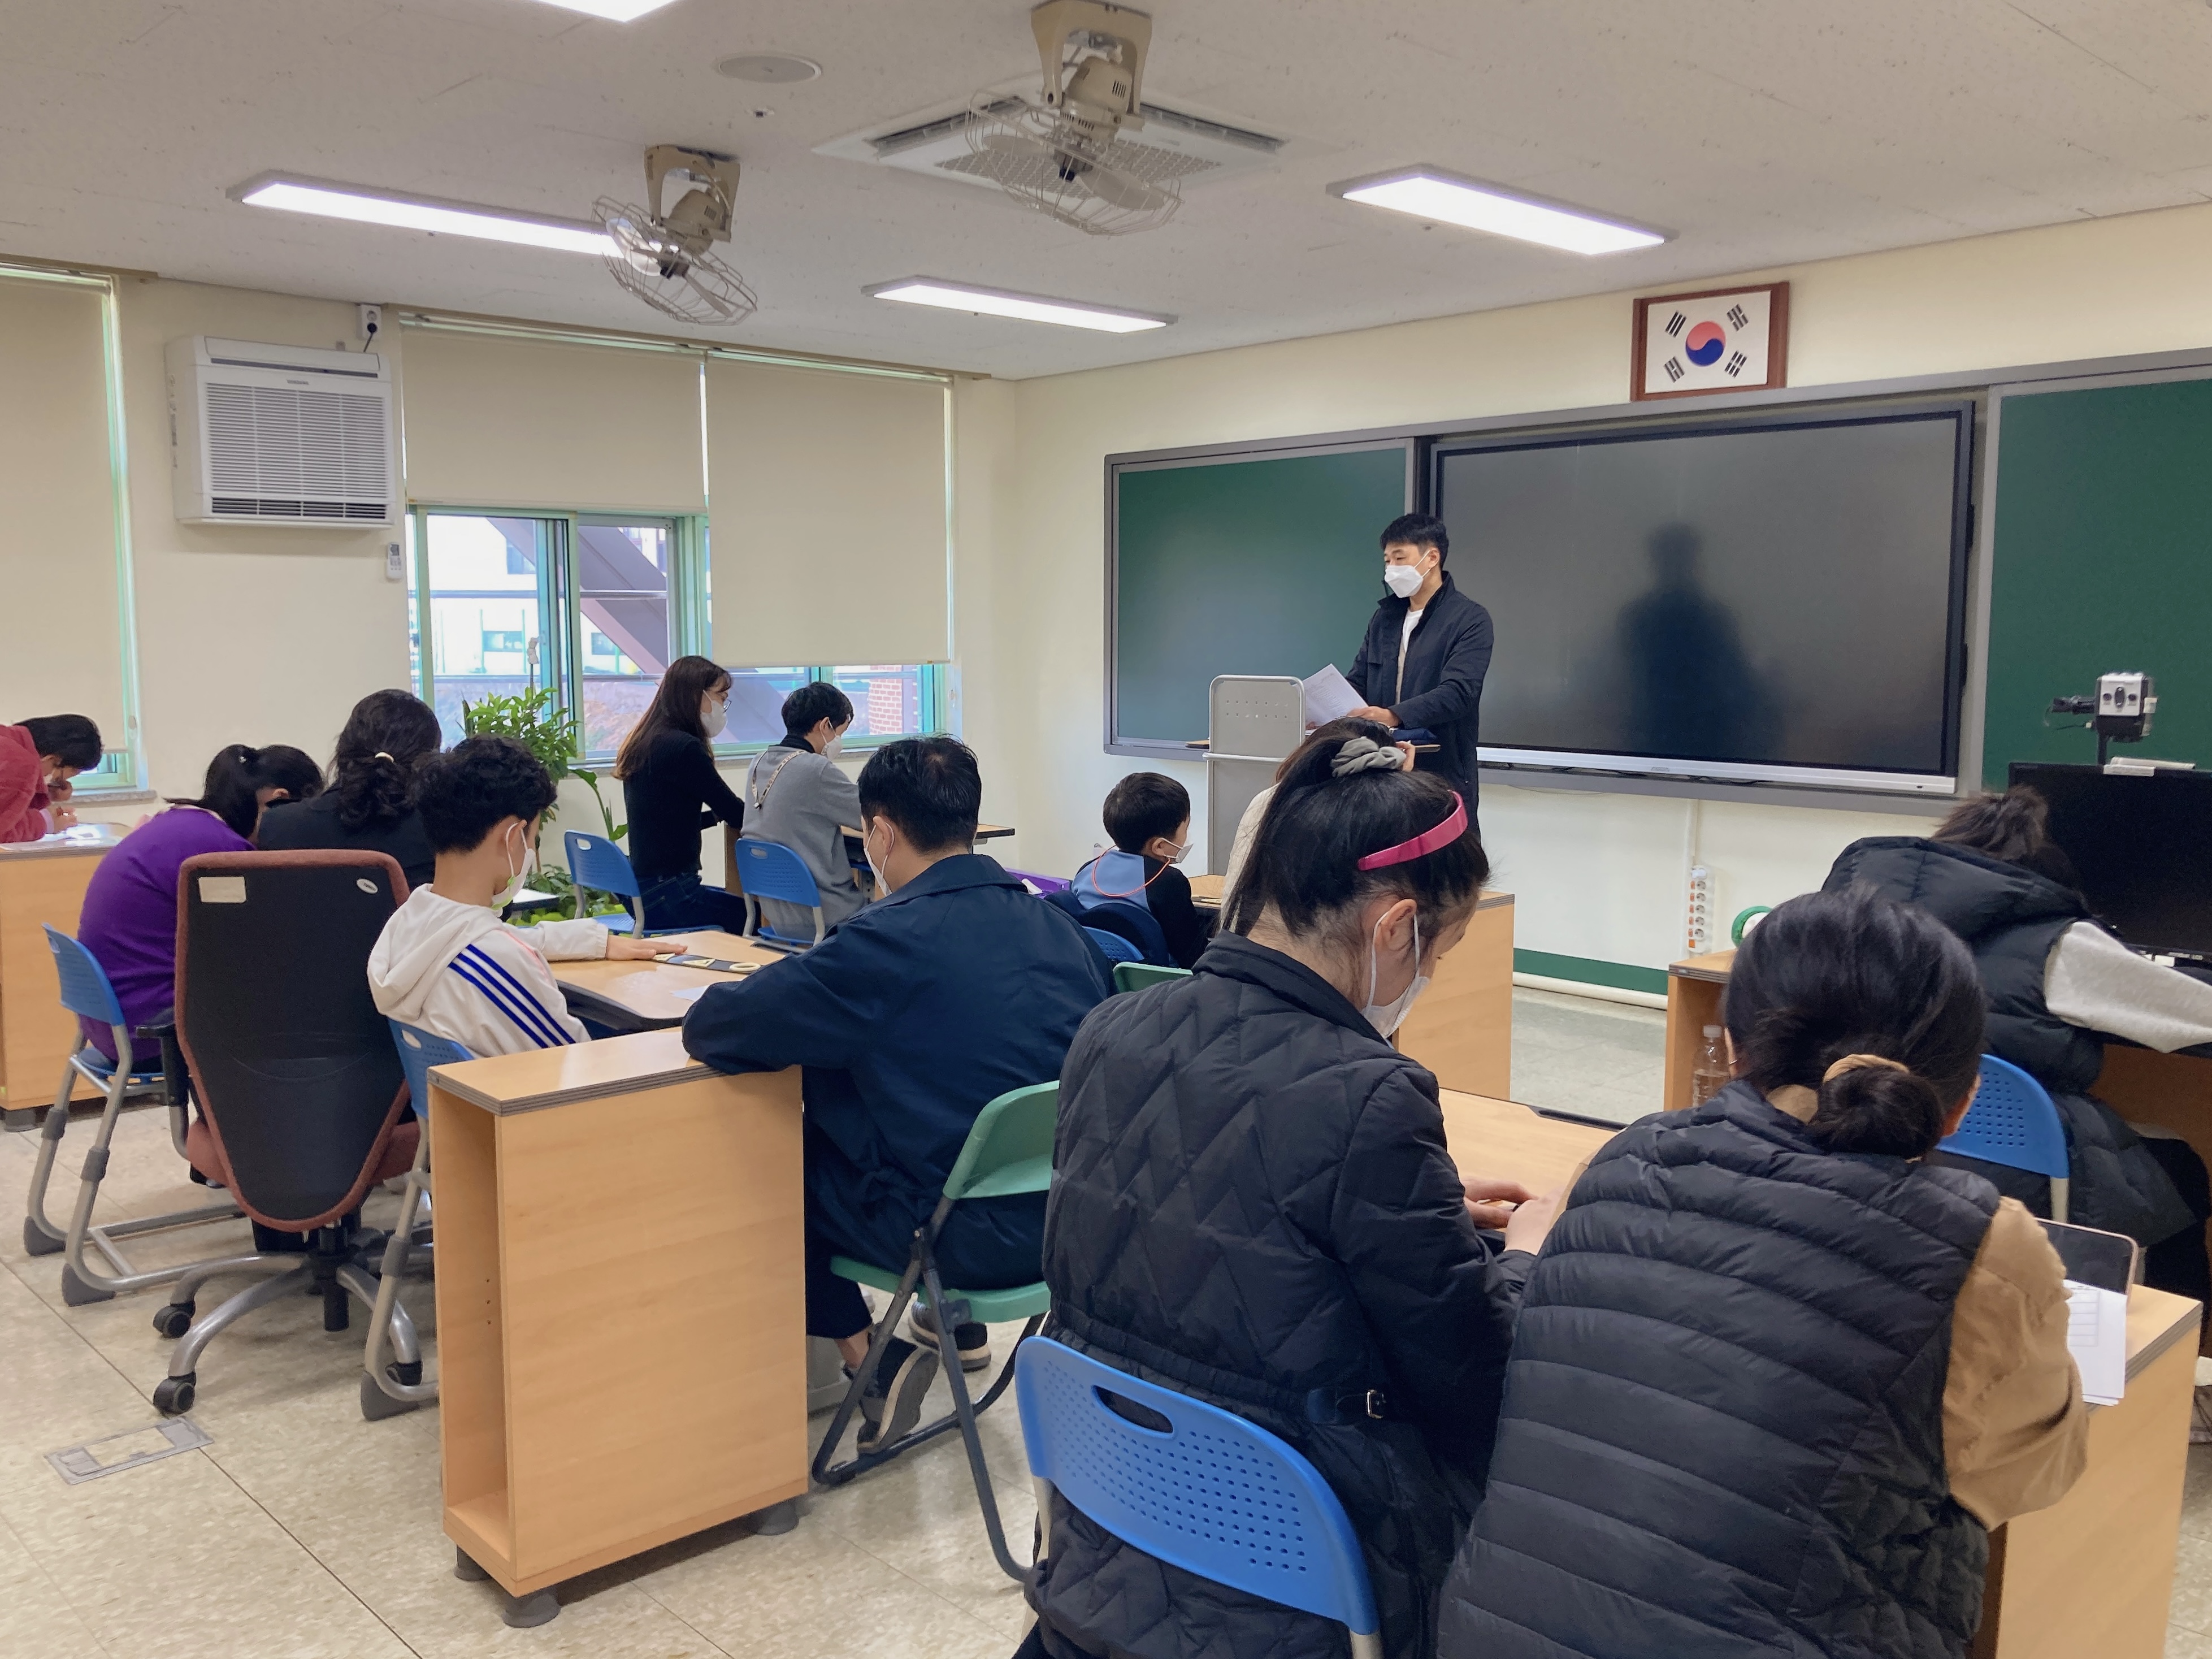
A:
POLYGON ((135 1267, 117 1243, 119 1239, 190 1228, 201 1221, 234 1221, 241 1210, 228 1199, 197 1210, 173 1210, 170 1214, 93 1225, 93 1201, 100 1197, 100 1183, 108 1172, 108 1146, 115 1139, 115 1121, 122 1117, 124 1104, 133 1099, 166 1099, 168 1139, 179 1157, 188 1157, 186 1095, 173 1086, 161 1068, 133 1068, 128 1064, 133 1060, 133 1031, 124 1024, 124 1009, 115 995, 115 987, 108 984, 106 969, 100 967, 93 953, 58 927, 46 929, 46 949, 53 951, 53 971, 62 980, 62 1006, 84 1020, 104 1024, 113 1035, 115 1053, 126 1064, 115 1064, 100 1053, 80 1029, 77 1044, 62 1064, 62 1084, 40 1128, 38 1164, 31 1168, 31 1197, 24 1203, 22 1217, 22 1248, 33 1256, 66 1252, 66 1261, 62 1263, 62 1301, 71 1307, 104 1303, 126 1290, 168 1285, 195 1267, 219 1267, 232 1261, 223 1256, 199 1263, 186 1261, 175 1267, 135 1267), (46 1183, 62 1152, 62 1135, 69 1133, 69 1102, 75 1095, 77 1077, 100 1088, 106 1095, 106 1104, 100 1110, 100 1126, 93 1130, 93 1146, 84 1155, 84 1170, 77 1177, 75 1210, 71 1210, 66 1228, 55 1228, 46 1219, 46 1183), (100 1252, 100 1267, 88 1263, 86 1245, 100 1252))

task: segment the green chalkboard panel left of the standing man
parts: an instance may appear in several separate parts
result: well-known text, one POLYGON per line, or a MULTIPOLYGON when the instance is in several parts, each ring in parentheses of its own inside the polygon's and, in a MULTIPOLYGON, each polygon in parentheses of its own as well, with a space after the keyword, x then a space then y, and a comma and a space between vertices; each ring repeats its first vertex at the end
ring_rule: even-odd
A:
POLYGON ((1214 675, 1349 668, 1407 445, 1113 471, 1113 741, 1206 737, 1214 675))

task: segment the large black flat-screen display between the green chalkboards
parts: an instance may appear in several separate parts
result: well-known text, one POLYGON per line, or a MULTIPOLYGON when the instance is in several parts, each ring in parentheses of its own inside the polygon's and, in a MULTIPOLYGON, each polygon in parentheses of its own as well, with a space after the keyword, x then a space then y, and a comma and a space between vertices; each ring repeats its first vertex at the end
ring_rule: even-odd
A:
POLYGON ((1973 407, 1440 440, 1482 759, 1951 790, 1973 407))

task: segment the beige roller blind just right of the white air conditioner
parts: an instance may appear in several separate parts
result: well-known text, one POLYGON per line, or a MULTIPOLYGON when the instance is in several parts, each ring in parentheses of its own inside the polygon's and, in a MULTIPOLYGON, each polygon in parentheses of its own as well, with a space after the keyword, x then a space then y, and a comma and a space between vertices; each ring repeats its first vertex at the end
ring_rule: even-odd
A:
POLYGON ((699 358, 409 327, 407 495, 449 507, 697 513, 699 358))

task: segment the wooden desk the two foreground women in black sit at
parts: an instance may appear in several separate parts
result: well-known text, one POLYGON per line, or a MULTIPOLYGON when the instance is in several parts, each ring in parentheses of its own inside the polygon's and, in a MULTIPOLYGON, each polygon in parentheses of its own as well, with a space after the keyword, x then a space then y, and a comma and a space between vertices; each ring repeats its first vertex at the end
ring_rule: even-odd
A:
MULTIPOLYGON (((1506 1099, 1447 1091, 1444 1139, 1462 1175, 1557 1186, 1608 1133, 1506 1099)), ((1989 1537, 1989 1590, 1973 1659, 2159 1659, 2181 1533, 2197 1303, 2137 1285, 2128 1296, 2128 1394, 2093 1407, 2088 1467, 2051 1509, 1989 1537)))

